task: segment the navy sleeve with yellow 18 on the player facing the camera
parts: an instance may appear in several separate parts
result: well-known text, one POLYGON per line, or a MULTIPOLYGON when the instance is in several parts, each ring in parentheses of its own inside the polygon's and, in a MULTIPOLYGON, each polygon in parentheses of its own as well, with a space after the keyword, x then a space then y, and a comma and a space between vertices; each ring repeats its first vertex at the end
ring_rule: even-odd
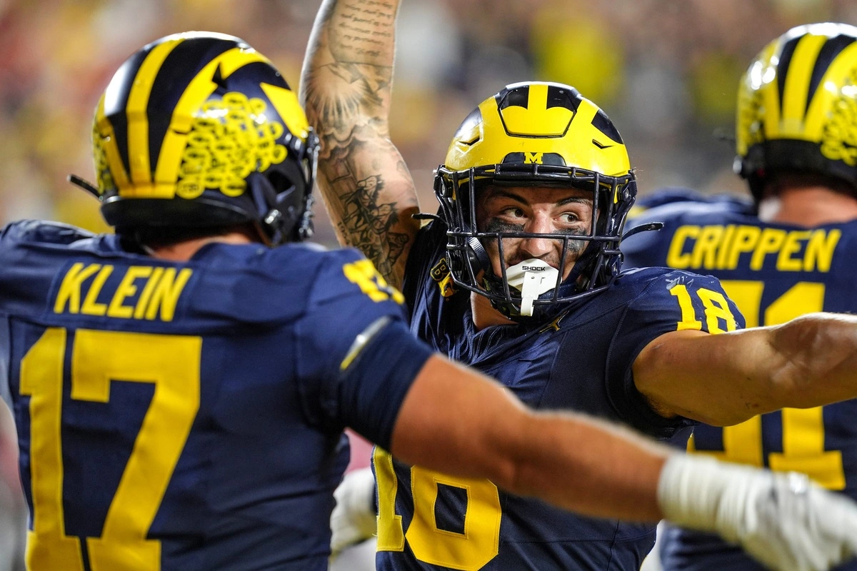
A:
POLYGON ((649 406, 637 390, 632 366, 638 354, 656 337, 680 330, 710 334, 744 327, 738 307, 715 277, 686 271, 649 269, 631 275, 655 275, 627 306, 608 357, 608 393, 614 407, 640 431, 659 437, 691 424, 681 417, 667 419, 649 406))

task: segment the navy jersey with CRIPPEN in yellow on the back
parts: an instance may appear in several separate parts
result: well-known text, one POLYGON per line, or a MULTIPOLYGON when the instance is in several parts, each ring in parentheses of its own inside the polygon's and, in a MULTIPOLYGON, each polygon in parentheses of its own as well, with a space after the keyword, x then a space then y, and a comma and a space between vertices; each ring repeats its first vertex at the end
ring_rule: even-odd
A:
MULTIPOLYGON (((810 312, 855 312, 857 221, 801 228, 763 223, 752 203, 690 191, 656 195, 629 225, 662 222, 622 242, 625 267, 668 265, 721 280, 747 326, 781 324, 810 312)), ((808 474, 857 500, 857 400, 783 409, 719 428, 699 425, 688 449, 722 460, 808 474)), ((714 536, 670 528, 662 538, 669 571, 762 571, 714 536)), ((857 571, 857 562, 839 569, 857 571)))

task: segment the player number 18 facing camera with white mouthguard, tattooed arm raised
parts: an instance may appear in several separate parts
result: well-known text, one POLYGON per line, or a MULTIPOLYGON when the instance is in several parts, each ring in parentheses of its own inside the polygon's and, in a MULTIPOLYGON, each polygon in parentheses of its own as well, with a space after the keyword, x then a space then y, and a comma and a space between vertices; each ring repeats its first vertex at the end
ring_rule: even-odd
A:
MULTIPOLYGON (((530 407, 584 411, 680 447, 698 420, 731 425, 857 395, 854 318, 738 331, 714 278, 618 276, 634 175, 614 124, 570 86, 520 83, 479 104, 436 172, 440 211, 421 229, 388 136, 397 9, 322 3, 301 85, 339 238, 403 285, 417 336, 530 407)), ((638 569, 654 543, 653 524, 561 512, 395 451, 374 460, 385 571, 638 569)))

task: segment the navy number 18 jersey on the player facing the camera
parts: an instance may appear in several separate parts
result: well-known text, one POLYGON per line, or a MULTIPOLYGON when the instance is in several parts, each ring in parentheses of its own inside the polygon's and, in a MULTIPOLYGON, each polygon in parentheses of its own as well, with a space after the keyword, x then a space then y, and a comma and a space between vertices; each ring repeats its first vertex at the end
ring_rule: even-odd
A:
MULTIPOLYGON (((633 271, 553 320, 474 329, 469 292, 455 292, 432 224, 417 236, 405 277, 411 330, 474 366, 534 408, 571 409, 632 425, 683 447, 687 419, 654 413, 631 366, 657 336, 734 330, 740 314, 716 280, 681 271, 633 271)), ((600 520, 396 461, 375 449, 381 570, 638 569, 655 526, 600 520)))

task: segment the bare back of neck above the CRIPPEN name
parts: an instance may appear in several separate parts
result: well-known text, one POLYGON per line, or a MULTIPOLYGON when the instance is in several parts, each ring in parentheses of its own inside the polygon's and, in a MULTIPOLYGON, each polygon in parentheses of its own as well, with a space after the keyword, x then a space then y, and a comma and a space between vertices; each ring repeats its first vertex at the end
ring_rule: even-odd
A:
POLYGON ((776 196, 762 199, 758 217, 806 227, 849 222, 857 219, 857 199, 828 187, 782 188, 776 196))

